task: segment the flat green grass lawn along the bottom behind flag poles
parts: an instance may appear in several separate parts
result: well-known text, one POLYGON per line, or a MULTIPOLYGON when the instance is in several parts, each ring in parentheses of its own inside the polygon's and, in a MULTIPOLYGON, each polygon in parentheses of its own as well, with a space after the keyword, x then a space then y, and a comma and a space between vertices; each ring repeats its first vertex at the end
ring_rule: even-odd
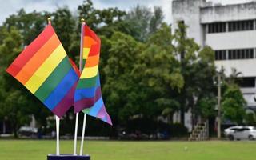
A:
MULTIPOLYGON (((255 160, 256 142, 120 142, 86 141, 92 160, 255 160), (187 150, 185 149, 187 148, 187 150)), ((79 148, 78 148, 79 149, 79 148)), ((54 141, 0 140, 1 160, 46 160, 54 141)), ((73 152, 73 141, 61 141, 61 153, 73 152)))

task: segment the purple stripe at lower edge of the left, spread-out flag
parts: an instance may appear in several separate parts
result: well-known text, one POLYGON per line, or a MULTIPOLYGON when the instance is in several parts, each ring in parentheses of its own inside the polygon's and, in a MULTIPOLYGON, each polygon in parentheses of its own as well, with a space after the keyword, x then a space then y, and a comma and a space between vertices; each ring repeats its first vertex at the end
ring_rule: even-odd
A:
POLYGON ((74 90, 77 84, 77 82, 74 83, 74 85, 71 87, 66 96, 62 98, 62 101, 54 107, 54 110, 52 110, 52 112, 54 112, 54 114, 56 114, 59 118, 66 114, 66 111, 74 105, 74 90))

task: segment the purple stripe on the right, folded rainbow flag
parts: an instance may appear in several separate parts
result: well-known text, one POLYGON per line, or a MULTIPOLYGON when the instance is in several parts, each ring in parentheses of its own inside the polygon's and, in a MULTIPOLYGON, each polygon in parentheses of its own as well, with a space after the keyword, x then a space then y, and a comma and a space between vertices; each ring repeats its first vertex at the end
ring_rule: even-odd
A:
POLYGON ((78 113, 81 110, 94 106, 94 103, 97 102, 98 99, 101 97, 102 97, 101 86, 98 86, 94 98, 84 98, 79 100, 78 102, 74 102, 74 113, 78 113))

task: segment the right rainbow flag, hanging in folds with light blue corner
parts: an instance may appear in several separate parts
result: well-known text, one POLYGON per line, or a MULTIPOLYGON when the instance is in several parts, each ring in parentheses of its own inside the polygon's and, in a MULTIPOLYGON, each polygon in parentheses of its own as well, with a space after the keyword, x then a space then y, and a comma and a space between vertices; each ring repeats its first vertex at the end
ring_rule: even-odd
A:
POLYGON ((102 121, 112 125, 110 116, 107 114, 102 100, 98 72, 101 40, 86 25, 84 26, 82 36, 83 61, 85 66, 74 94, 74 111, 77 113, 83 110, 86 114, 100 118, 102 121))

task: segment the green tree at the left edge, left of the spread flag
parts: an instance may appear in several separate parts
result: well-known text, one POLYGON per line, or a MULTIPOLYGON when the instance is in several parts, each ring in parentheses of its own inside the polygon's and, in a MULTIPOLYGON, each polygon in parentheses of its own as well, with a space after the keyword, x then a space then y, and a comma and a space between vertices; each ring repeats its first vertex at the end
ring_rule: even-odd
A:
MULTIPOLYGON (((7 66, 14 58, 21 53, 24 46, 28 45, 42 31, 46 25, 46 13, 32 12, 26 14, 24 10, 19 10, 18 15, 11 15, 6 18, 6 22, 1 26, 2 35, 1 50, 1 76, 0 88, 2 91, 2 115, 4 115, 14 125, 13 130, 17 136, 19 126, 30 122, 30 116, 34 114, 39 126, 46 126, 46 117, 50 115, 37 98, 14 78, 6 73, 7 66), (2 87, 1 87, 2 86, 2 87)), ((0 91, 0 92, 1 92, 0 91)))

